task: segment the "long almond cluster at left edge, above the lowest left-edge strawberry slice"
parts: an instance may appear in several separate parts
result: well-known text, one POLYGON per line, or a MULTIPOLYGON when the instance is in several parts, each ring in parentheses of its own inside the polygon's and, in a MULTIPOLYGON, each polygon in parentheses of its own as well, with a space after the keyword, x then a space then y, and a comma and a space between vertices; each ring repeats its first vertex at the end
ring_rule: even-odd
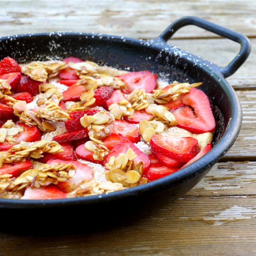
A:
POLYGON ((36 141, 28 145, 24 141, 14 145, 8 151, 0 151, 0 168, 3 163, 25 161, 28 157, 35 159, 43 157, 43 153, 60 153, 63 149, 57 141, 36 141))

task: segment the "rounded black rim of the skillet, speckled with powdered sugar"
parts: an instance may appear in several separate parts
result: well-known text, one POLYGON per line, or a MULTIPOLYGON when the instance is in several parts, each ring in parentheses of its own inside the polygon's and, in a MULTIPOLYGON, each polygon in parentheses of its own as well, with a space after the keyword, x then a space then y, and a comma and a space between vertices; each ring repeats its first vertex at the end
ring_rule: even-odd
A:
POLYGON ((144 185, 137 186, 135 188, 130 188, 128 190, 121 190, 112 192, 109 194, 101 195, 90 195, 86 197, 74 197, 66 199, 51 199, 51 200, 24 200, 24 199, 6 199, 0 198, 0 209, 46 209, 52 207, 67 207, 71 205, 93 205, 109 202, 112 200, 126 200, 130 199, 136 195, 140 196, 150 196, 161 193, 164 190, 167 190, 171 187, 177 186, 186 180, 189 180, 196 175, 203 172, 205 169, 212 167, 222 155, 224 155, 229 148, 233 145, 236 140, 236 137, 239 134, 241 125, 242 125, 242 108, 240 102, 236 96, 234 89, 229 85, 223 75, 220 73, 220 68, 216 65, 201 59, 194 54, 190 54, 187 51, 184 51, 178 47, 174 47, 166 43, 165 41, 160 40, 159 38, 153 40, 137 40, 132 38, 127 38, 123 36, 108 35, 108 34, 95 34, 95 33, 74 33, 74 32, 49 32, 49 33, 33 33, 33 34, 19 34, 13 36, 0 37, 0 43, 2 40, 15 40, 26 37, 40 37, 40 36, 85 36, 86 39, 97 38, 98 40, 110 40, 118 41, 124 44, 133 44, 142 47, 148 47, 149 49, 155 49, 158 51, 164 51, 172 53, 173 48, 178 50, 180 53, 179 58, 182 61, 190 62, 185 56, 189 54, 189 57, 192 56, 194 60, 198 60, 198 63, 208 63, 208 65, 199 66, 205 73, 211 76, 212 79, 223 89, 224 93, 227 95, 230 108, 231 108, 231 118, 229 124, 222 135, 222 138, 216 143, 216 145, 206 154, 203 155, 200 159, 190 164, 188 167, 179 170, 172 175, 167 175, 161 179, 149 182, 144 185))

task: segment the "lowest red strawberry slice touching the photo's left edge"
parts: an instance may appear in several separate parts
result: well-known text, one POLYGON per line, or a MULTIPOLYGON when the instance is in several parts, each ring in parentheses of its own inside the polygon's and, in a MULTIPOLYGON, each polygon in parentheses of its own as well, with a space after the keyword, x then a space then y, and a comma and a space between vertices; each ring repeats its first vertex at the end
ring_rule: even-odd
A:
POLYGON ((11 174, 12 177, 20 176, 24 171, 32 169, 32 162, 26 160, 25 162, 13 162, 13 163, 4 163, 0 168, 0 175, 11 174))

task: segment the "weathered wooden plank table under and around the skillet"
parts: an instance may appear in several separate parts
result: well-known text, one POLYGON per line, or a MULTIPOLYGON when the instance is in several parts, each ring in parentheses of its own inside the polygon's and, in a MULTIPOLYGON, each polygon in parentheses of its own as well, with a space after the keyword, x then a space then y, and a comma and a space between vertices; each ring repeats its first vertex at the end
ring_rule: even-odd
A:
MULTIPOLYGON (((195 15, 247 35, 254 47, 255 12, 255 0, 1 0, 0 36, 65 30, 150 39, 172 21, 195 15)), ((223 66, 239 50, 191 26, 170 43, 223 66)), ((252 50, 228 79, 243 107, 237 141, 189 193, 148 218, 111 230, 40 237, 0 231, 0 255, 256 255, 255 66, 252 50)), ((28 229, 40 229, 40 223, 28 223, 28 229)))

